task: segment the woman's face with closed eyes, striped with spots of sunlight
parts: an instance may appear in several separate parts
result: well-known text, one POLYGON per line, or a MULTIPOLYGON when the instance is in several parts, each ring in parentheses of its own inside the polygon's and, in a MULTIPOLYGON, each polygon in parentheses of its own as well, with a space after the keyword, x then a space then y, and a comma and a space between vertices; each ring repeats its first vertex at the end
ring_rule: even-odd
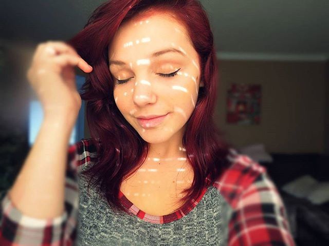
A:
POLYGON ((139 135, 153 144, 182 136, 200 83, 186 28, 167 14, 132 19, 120 26, 108 57, 117 107, 139 135), (150 115, 166 116, 138 120, 150 115))

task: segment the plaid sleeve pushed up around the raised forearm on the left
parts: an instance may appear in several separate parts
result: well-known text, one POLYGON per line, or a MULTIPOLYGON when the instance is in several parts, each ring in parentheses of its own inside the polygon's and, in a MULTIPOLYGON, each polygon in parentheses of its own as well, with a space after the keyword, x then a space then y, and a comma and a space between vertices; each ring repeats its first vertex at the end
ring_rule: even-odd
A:
POLYGON ((70 246, 74 244, 79 204, 77 146, 78 143, 68 147, 63 214, 48 219, 26 216, 14 206, 8 190, 1 201, 0 245, 70 246))

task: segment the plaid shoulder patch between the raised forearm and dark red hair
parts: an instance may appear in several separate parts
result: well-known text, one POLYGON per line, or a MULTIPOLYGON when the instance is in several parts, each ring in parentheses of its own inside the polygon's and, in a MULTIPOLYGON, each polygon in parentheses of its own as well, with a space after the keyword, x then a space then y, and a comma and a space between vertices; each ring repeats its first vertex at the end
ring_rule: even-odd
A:
POLYGON ((81 139, 68 147, 68 169, 75 173, 80 172, 85 166, 94 163, 97 159, 97 148, 92 138, 81 139))

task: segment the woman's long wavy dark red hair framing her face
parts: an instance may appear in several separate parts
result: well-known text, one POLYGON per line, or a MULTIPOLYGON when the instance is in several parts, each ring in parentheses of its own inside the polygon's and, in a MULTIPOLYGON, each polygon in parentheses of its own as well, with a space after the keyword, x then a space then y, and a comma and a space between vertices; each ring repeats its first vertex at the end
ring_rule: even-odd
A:
POLYGON ((85 170, 90 183, 110 207, 124 211, 119 198, 124 177, 132 175, 147 158, 149 143, 123 117, 113 96, 115 81, 109 71, 108 47, 120 24, 139 14, 168 13, 183 24, 198 53, 201 77, 195 109, 187 121, 182 144, 194 179, 177 202, 182 209, 211 186, 227 169, 231 147, 213 121, 217 88, 217 63, 209 18, 196 0, 112 0, 100 5, 85 27, 66 43, 93 66, 80 96, 86 101, 86 118, 97 148, 97 165, 85 170))

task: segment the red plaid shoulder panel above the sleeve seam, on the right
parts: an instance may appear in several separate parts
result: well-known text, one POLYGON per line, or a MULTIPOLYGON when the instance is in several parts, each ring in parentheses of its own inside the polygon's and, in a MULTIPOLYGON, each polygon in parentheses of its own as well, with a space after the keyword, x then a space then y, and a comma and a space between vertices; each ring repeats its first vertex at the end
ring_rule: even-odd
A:
POLYGON ((244 191, 256 182, 265 181, 264 179, 269 179, 269 177, 265 167, 249 156, 237 153, 234 149, 230 149, 227 158, 230 166, 214 182, 213 186, 234 208, 244 191))

